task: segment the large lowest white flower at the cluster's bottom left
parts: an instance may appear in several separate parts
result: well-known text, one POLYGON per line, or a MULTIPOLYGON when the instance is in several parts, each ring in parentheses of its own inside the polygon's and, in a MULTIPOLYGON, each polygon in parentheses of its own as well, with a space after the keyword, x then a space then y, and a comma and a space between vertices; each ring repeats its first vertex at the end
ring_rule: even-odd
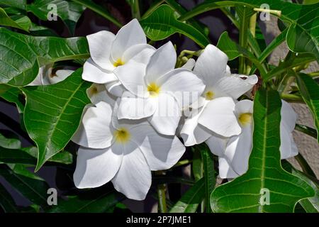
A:
POLYGON ((151 170, 176 164, 185 147, 176 136, 157 133, 147 121, 118 120, 118 101, 111 96, 89 107, 72 140, 81 145, 74 184, 100 187, 111 181, 130 199, 145 199, 151 170))

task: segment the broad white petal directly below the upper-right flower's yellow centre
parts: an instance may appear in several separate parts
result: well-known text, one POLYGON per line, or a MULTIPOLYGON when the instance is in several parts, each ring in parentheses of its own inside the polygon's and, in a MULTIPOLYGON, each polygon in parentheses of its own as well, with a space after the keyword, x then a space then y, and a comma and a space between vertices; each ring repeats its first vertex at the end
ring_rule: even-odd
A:
POLYGON ((224 137, 239 135, 240 125, 235 116, 235 102, 230 97, 221 97, 208 102, 198 123, 224 137))

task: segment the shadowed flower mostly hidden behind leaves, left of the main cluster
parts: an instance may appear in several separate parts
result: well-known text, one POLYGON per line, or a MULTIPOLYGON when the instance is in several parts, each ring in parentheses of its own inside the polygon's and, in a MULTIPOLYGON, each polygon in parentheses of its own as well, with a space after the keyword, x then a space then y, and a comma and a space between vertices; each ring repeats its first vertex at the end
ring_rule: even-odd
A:
POLYGON ((57 84, 58 82, 62 82, 62 80, 65 80, 74 72, 74 70, 57 70, 55 73, 53 73, 52 67, 53 64, 48 64, 40 67, 37 77, 35 77, 33 82, 28 84, 28 86, 57 84))

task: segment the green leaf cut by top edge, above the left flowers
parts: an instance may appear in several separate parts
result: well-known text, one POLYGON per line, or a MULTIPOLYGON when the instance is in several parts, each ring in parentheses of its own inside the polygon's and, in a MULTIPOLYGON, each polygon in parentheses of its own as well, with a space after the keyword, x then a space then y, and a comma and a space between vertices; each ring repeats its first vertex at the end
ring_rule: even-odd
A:
POLYGON ((35 0, 32 4, 27 6, 27 11, 32 12, 41 20, 47 21, 48 14, 50 14, 50 11, 54 10, 54 8, 50 6, 56 6, 57 16, 65 22, 69 31, 74 34, 77 21, 82 15, 85 7, 65 0, 35 0))

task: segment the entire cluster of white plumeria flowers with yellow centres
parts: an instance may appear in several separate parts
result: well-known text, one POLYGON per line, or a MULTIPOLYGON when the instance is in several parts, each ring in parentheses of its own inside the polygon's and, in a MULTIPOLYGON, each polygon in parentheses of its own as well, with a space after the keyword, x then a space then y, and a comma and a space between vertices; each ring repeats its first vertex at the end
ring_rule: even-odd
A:
MULTIPOLYGON (((237 99, 250 93, 256 75, 231 74, 227 55, 213 45, 196 62, 175 68, 172 43, 148 45, 135 19, 116 35, 100 31, 87 40, 91 57, 82 78, 94 84, 87 91, 92 104, 72 138, 80 145, 78 188, 111 181, 128 198, 145 199, 152 170, 169 169, 185 145, 203 142, 219 156, 220 177, 247 170, 253 102, 237 99)), ((283 101, 281 115, 281 157, 287 158, 298 153, 291 137, 296 114, 283 101)))

